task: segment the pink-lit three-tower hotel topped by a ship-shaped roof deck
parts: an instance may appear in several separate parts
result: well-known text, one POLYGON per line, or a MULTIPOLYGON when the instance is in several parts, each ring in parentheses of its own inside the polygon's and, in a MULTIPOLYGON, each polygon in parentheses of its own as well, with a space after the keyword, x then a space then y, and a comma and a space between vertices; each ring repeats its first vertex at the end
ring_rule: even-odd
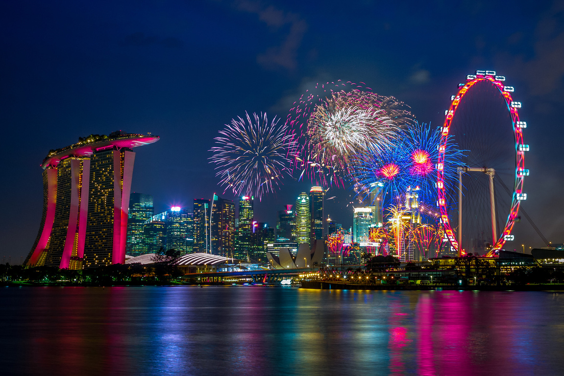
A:
POLYGON ((43 214, 27 266, 60 268, 125 262, 135 153, 157 136, 90 135, 43 159, 43 214))

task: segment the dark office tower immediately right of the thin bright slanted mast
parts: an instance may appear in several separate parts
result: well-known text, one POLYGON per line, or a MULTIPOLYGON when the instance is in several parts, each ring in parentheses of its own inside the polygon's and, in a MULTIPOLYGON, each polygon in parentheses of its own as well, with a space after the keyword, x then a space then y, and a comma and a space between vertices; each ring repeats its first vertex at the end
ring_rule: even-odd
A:
POLYGON ((235 203, 214 194, 211 204, 211 253, 232 257, 235 250, 235 203))

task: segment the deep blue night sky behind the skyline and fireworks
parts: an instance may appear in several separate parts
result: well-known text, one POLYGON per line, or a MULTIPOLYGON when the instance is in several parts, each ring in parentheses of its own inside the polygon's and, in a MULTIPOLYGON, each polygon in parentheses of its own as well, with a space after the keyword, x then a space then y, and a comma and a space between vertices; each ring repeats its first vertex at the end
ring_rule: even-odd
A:
MULTIPOLYGON (((4 1, 0 2, 0 257, 19 263, 42 212, 49 149, 117 129, 158 135, 135 149, 132 191, 155 211, 222 194, 213 137, 245 111, 285 119, 316 83, 364 82, 438 126, 457 84, 477 69, 515 87, 528 123, 528 214, 564 241, 564 2, 4 1)), ((255 202, 259 221, 311 183, 285 180, 255 202)), ((351 192, 326 213, 350 226, 351 192)), ((542 247, 524 219, 514 243, 542 247)), ((2 259, 0 259, 1 261, 2 259)))

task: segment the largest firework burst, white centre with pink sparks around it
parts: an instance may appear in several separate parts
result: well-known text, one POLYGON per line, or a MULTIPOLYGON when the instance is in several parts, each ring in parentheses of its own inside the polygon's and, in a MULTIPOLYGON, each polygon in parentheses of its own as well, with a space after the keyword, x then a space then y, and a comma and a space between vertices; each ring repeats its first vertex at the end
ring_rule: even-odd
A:
POLYGON ((413 119, 406 108, 359 84, 318 84, 295 103, 287 118, 300 145, 294 171, 318 185, 342 185, 350 176, 352 155, 393 145, 397 129, 413 119))

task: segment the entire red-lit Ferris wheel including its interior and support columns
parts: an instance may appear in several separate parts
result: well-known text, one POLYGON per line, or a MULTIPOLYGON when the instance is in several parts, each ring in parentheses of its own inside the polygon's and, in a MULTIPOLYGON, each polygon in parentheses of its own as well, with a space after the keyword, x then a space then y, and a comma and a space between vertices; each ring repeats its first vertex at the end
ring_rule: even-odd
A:
POLYGON ((459 85, 446 111, 437 168, 438 204, 445 235, 459 256, 465 251, 492 256, 505 241, 513 240, 519 204, 527 198, 523 178, 528 175, 528 145, 523 144, 522 132, 527 124, 519 120, 521 102, 513 101, 512 92, 505 77, 478 70, 459 85), (445 182, 442 171, 449 134, 465 150, 457 185, 445 182), (448 191, 453 185, 457 188, 448 191), (458 205, 453 204, 456 197, 458 205))

